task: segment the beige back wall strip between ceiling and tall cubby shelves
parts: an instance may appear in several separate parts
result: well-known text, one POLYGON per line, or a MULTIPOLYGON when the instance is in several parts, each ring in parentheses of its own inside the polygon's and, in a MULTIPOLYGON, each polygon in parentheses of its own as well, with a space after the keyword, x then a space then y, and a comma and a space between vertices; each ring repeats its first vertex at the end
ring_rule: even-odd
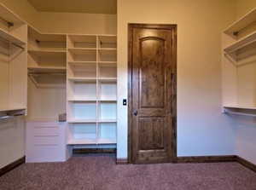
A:
POLYGON ((76 14, 40 12, 42 32, 116 34, 115 14, 76 14))

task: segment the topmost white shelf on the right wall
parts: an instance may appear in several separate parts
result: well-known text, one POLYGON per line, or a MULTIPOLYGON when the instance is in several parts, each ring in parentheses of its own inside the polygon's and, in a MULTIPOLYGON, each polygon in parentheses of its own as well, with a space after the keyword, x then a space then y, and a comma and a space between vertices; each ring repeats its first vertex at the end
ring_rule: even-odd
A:
POLYGON ((240 20, 236 20, 236 22, 234 22, 226 30, 224 30, 224 33, 235 37, 236 32, 240 32, 243 28, 251 25, 255 21, 256 21, 256 9, 253 9, 252 11, 250 11, 249 13, 241 17, 240 20))

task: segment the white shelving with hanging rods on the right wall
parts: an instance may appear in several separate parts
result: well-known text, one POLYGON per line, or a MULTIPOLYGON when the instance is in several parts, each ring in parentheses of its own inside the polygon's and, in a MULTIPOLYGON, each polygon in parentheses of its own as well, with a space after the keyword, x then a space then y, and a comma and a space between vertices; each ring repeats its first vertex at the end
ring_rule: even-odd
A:
POLYGON ((256 116, 256 9, 224 30, 223 109, 256 116))

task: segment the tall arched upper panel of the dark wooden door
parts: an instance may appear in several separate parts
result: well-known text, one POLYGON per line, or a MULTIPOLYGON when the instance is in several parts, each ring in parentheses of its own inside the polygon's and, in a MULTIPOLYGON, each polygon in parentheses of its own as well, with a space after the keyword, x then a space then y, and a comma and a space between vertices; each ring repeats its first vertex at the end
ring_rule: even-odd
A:
POLYGON ((160 37, 140 38, 140 107, 164 107, 165 40, 160 37), (158 87, 157 89, 155 87, 158 87))

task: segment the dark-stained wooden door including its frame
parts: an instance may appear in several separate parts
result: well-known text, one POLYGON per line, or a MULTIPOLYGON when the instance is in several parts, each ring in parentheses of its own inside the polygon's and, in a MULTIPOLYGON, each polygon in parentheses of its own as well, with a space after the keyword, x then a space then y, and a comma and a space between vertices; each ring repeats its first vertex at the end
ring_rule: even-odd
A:
POLYGON ((129 158, 133 164, 176 158, 174 25, 129 25, 129 158))

